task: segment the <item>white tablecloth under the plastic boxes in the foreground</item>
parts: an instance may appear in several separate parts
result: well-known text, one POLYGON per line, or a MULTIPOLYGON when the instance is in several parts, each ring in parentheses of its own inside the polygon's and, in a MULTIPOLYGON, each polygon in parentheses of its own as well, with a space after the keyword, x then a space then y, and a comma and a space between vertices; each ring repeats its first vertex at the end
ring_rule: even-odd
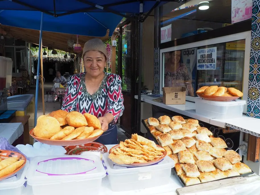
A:
MULTIPOLYGON (((113 147, 114 145, 106 145, 107 149, 113 147)), ((192 194, 186 195, 256 195, 259 194, 260 176, 253 174, 247 177, 246 184, 234 184, 233 186, 228 186, 224 188, 218 188, 215 190, 208 190, 204 192, 193 192, 192 194)), ((177 195, 176 189, 181 188, 181 184, 175 175, 171 175, 170 182, 167 185, 145 188, 140 190, 131 190, 124 192, 113 192, 110 188, 108 177, 102 179, 102 186, 98 195, 177 195)), ((58 194, 59 192, 57 192, 58 194)), ((22 195, 37 195, 32 193, 32 189, 27 185, 24 188, 22 195)), ((74 194, 74 195, 84 195, 84 194, 74 194)))

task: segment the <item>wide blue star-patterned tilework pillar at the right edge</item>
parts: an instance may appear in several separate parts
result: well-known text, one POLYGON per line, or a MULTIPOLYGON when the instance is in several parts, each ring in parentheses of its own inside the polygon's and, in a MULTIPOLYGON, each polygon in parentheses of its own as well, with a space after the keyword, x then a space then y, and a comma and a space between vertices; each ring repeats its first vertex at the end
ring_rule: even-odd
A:
POLYGON ((247 116, 260 118, 260 1, 253 0, 247 116))

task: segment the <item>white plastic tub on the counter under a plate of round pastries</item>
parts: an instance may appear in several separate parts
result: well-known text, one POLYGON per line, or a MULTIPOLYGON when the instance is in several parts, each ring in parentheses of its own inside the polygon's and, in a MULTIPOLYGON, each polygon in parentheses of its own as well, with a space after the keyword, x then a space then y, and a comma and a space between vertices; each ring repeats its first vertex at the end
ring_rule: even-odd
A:
POLYGON ((196 113, 218 119, 241 117, 245 104, 245 100, 218 102, 195 98, 196 113))

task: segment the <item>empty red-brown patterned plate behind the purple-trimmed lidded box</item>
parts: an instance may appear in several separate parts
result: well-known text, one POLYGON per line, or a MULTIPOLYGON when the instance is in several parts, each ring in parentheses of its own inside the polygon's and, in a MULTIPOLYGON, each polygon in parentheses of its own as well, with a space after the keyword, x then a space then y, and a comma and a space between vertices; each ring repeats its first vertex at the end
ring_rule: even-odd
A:
POLYGON ((65 153, 66 155, 80 155, 82 152, 95 150, 100 150, 102 153, 107 152, 107 147, 105 145, 95 141, 82 145, 66 146, 64 148, 67 151, 65 153))

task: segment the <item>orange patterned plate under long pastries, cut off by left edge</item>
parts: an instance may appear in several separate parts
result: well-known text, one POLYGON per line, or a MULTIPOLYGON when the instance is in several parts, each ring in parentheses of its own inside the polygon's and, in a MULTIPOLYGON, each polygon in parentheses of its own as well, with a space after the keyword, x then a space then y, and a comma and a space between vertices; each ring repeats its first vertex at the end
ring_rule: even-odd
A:
POLYGON ((11 151, 11 150, 0 150, 0 157, 1 157, 2 160, 8 159, 9 157, 17 157, 17 158, 19 158, 20 160, 24 160, 24 163, 22 164, 21 167, 19 167, 19 169, 15 170, 15 171, 12 172, 12 173, 9 173, 8 175, 5 175, 5 176, 0 177, 0 181, 11 177, 11 176, 14 175, 17 171, 21 170, 22 167, 24 167, 24 165, 26 164, 26 158, 25 158, 24 155, 22 155, 22 154, 20 154, 20 153, 18 153, 18 152, 11 151))

